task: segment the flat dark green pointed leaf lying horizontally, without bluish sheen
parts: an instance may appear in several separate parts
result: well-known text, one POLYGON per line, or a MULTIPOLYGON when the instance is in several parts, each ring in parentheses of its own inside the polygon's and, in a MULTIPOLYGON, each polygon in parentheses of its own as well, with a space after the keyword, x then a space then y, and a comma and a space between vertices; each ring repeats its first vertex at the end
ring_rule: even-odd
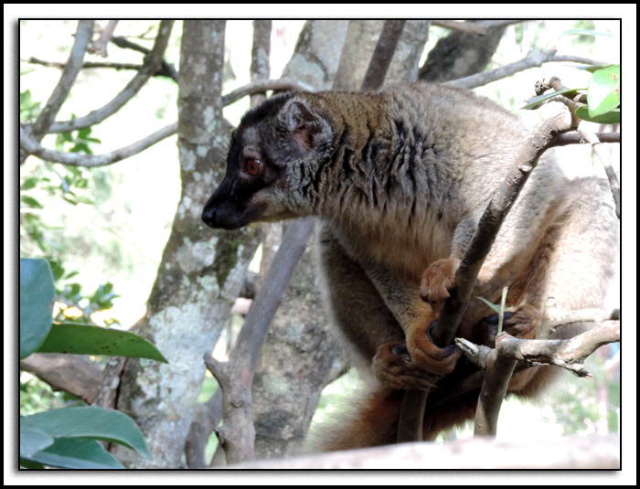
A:
POLYGON ((81 324, 53 324, 37 352, 133 356, 167 363, 154 345, 138 335, 81 324))

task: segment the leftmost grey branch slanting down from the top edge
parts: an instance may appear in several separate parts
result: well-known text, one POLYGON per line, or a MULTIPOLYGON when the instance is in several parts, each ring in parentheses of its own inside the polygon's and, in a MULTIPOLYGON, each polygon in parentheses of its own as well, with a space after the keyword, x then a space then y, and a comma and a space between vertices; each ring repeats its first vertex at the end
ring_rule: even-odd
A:
MULTIPOLYGON (((84 53, 91 42, 92 34, 93 21, 80 20, 78 22, 78 28, 76 30, 76 36, 73 41, 69 60, 67 61, 65 68, 62 70, 62 75, 60 76, 58 85, 53 89, 53 92, 47 101, 47 105, 45 105, 45 108, 40 112, 40 115, 37 117, 37 121, 30 126, 29 134, 37 143, 42 141, 42 138, 46 133, 50 132, 50 128, 54 124, 62 103, 67 100, 71 86, 76 80, 76 77, 80 72, 80 68, 82 67, 84 53)), ((27 156, 27 152, 20 151, 20 165, 25 162, 27 156)))

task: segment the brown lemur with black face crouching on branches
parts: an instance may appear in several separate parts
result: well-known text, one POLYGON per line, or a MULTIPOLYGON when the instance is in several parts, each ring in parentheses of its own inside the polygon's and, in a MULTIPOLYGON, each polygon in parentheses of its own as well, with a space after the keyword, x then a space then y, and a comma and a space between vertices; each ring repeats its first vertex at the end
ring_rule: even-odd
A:
MULTIPOLYGON (((368 396, 324 450, 395 441, 402 389, 430 388, 425 372, 453 371, 459 349, 427 330, 485 207, 528 132, 466 90, 409 84, 381 92, 289 92, 247 112, 233 132, 224 180, 202 219, 237 229, 315 216, 328 311, 359 364, 368 396)), ((552 152, 539 161, 480 271, 474 295, 515 314, 507 332, 536 335, 543 303, 601 306, 613 276, 617 219, 604 181, 570 180, 552 152)), ((458 335, 491 344, 481 301, 458 335)), ((560 328, 570 337, 581 325, 560 328)), ((494 333, 495 334, 495 333, 494 333)), ((534 394, 552 367, 515 375, 509 392, 534 394)), ((473 417, 477 391, 425 414, 424 438, 473 417)))

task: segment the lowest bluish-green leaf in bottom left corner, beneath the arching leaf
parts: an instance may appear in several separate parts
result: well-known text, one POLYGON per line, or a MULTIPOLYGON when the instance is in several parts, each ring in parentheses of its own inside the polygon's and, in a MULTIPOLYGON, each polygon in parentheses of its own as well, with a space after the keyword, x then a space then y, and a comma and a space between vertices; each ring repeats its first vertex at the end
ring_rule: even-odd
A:
POLYGON ((61 469, 123 469, 124 466, 95 440, 59 438, 53 445, 23 457, 61 469))

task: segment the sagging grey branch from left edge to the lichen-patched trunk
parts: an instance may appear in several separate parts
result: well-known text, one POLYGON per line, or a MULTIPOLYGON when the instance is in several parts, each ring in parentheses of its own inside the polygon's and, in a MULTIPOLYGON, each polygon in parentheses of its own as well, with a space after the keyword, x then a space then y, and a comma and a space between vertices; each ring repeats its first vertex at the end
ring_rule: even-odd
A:
POLYGON ((37 143, 32 137, 30 137, 23 127, 20 127, 20 148, 25 150, 28 154, 33 154, 38 158, 46 161, 62 163, 64 165, 86 166, 87 168, 94 168, 97 166, 112 165, 113 163, 133 156, 133 154, 141 153, 149 146, 162 141, 166 137, 169 137, 176 132, 177 122, 174 122, 165 126, 163 129, 160 129, 159 131, 148 135, 140 141, 136 141, 135 143, 129 144, 128 146, 123 146, 122 148, 112 151, 111 153, 78 154, 47 149, 42 146, 42 144, 37 143))

